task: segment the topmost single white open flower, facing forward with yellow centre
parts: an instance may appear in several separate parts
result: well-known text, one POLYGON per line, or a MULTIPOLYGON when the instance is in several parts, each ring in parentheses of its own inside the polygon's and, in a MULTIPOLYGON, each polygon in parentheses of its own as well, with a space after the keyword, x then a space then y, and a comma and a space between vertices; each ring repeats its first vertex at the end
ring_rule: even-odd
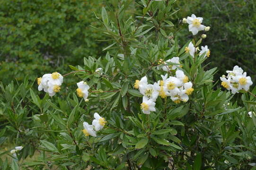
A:
POLYGON ((196 35, 198 31, 203 31, 206 26, 202 25, 203 18, 202 17, 196 17, 194 14, 192 14, 191 17, 186 18, 188 25, 188 29, 190 32, 192 32, 193 35, 196 35))

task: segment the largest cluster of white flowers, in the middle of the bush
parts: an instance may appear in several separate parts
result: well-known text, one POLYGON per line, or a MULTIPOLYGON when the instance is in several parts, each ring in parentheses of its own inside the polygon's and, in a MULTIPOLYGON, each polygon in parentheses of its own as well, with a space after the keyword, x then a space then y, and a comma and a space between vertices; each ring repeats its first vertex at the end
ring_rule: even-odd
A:
POLYGON ((192 83, 188 82, 188 76, 185 76, 182 70, 177 70, 175 76, 161 76, 162 80, 155 82, 153 85, 148 84, 146 76, 141 80, 136 80, 134 87, 139 89, 143 95, 141 103, 141 110, 145 114, 150 114, 150 111, 156 111, 155 101, 160 96, 166 98, 170 96, 171 100, 175 103, 187 102, 194 88, 192 83))

